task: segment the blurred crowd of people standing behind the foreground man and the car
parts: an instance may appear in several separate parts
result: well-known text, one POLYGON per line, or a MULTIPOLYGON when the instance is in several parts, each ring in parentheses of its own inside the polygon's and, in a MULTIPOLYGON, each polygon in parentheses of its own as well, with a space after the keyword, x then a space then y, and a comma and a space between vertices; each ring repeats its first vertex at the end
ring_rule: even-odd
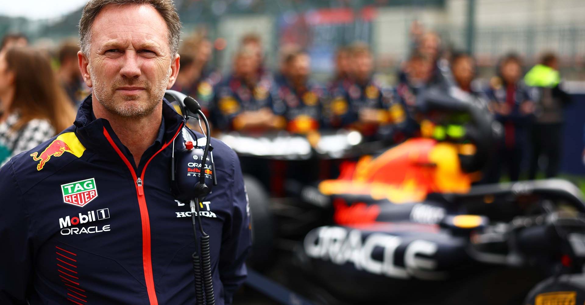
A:
MULTIPOLYGON (((414 23, 411 37, 411 52, 397 71, 397 83, 390 86, 377 81, 376 60, 362 42, 340 46, 335 71, 328 83, 319 84, 311 78, 311 57, 295 45, 281 46, 277 70, 267 68, 263 42, 254 33, 240 39, 229 72, 221 73, 211 65, 214 44, 199 33, 181 44, 180 71, 172 89, 199 101, 215 133, 309 135, 353 129, 366 140, 399 143, 421 135, 417 95, 438 81, 439 63, 449 63, 457 90, 485 102, 503 129, 498 162, 483 181, 495 183, 503 174, 510 180, 534 179, 539 167, 546 177, 558 174, 563 108, 570 97, 562 90, 554 53, 543 54, 528 71, 521 56, 505 54, 486 82, 476 79, 473 56, 446 49, 436 33, 414 23)), ((66 42, 46 52, 27 47, 25 36, 4 37, 0 164, 73 122, 74 108, 90 94, 78 68, 78 50, 77 43, 66 42)), ((440 132, 426 136, 444 138, 440 132)))

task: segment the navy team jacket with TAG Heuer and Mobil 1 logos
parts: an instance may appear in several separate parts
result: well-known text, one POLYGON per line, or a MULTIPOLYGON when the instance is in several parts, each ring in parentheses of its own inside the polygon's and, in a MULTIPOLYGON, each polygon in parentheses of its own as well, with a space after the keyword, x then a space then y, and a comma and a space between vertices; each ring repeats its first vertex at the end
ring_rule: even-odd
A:
MULTIPOLYGON (((195 304, 188 204, 171 193, 172 142, 163 124, 139 165, 91 96, 75 123, 0 170, 0 304, 195 304)), ((246 277, 249 207, 238 157, 212 139, 218 185, 201 206, 211 236, 216 304, 246 277)))

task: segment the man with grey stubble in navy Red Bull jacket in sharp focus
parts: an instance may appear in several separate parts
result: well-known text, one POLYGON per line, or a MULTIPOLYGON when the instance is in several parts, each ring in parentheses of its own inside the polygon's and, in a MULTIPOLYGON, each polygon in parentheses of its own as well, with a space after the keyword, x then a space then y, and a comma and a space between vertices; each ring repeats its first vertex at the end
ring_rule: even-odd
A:
MULTIPOLYGON (((170 181, 173 143, 184 149, 188 132, 163 100, 179 35, 170 0, 83 9, 92 95, 73 126, 0 170, 0 304, 195 304, 189 204, 170 181)), ((229 304, 246 277, 249 215, 238 157, 211 145, 218 185, 199 205, 216 304, 229 304)))

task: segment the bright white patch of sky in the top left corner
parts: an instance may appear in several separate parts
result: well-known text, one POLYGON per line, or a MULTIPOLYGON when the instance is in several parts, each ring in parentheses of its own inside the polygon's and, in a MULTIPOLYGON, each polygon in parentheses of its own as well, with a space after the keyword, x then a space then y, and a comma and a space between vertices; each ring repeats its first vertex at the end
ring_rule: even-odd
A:
POLYGON ((0 0, 0 15, 56 18, 81 8, 85 3, 87 0, 0 0))

